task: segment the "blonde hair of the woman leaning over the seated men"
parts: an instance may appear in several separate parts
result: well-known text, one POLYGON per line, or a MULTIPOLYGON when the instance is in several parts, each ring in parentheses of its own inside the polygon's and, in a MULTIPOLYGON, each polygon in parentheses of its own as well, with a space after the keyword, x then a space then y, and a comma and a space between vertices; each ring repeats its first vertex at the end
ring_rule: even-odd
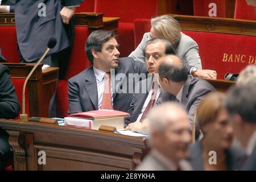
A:
POLYGON ((154 27, 156 31, 163 35, 164 39, 169 40, 174 47, 179 43, 180 24, 179 22, 169 15, 156 16, 151 19, 151 27, 154 27))

